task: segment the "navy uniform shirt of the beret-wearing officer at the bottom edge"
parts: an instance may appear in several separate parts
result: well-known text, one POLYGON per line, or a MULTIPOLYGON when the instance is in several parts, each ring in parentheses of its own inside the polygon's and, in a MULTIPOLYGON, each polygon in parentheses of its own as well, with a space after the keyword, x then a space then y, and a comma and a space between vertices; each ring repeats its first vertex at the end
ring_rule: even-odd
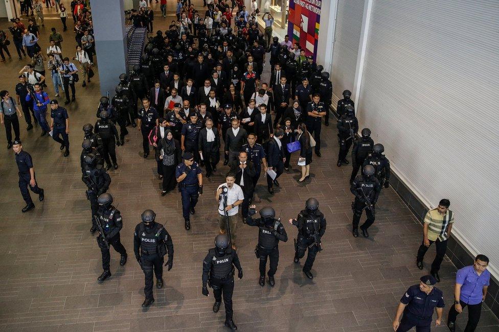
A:
POLYGON ((443 308, 445 306, 441 290, 434 287, 432 292, 426 295, 419 289, 419 284, 411 286, 402 296, 400 302, 407 305, 404 312, 408 311, 420 318, 431 318, 435 307, 443 308))

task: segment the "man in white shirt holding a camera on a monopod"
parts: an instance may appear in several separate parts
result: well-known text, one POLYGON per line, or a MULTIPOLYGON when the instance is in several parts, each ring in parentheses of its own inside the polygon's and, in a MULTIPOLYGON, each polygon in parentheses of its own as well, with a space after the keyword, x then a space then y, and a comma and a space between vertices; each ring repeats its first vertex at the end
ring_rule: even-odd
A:
POLYGON ((234 183, 235 180, 236 176, 234 173, 227 173, 225 176, 225 183, 220 184, 215 193, 215 199, 218 202, 218 226, 220 227, 220 233, 225 234, 226 219, 229 219, 231 228, 230 238, 232 240, 233 249, 236 249, 238 205, 244 200, 242 189, 239 185, 234 183), (227 216, 225 216, 225 214, 227 216))

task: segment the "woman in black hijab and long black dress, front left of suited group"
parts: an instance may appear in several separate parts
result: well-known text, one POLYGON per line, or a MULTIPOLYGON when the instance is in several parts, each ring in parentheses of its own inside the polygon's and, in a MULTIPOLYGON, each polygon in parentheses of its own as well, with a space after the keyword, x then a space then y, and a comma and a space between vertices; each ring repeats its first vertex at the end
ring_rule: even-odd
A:
POLYGON ((165 196, 175 188, 175 167, 182 160, 180 143, 173 138, 171 130, 165 130, 165 137, 161 140, 160 154, 160 159, 163 161, 163 191, 161 196, 165 196))

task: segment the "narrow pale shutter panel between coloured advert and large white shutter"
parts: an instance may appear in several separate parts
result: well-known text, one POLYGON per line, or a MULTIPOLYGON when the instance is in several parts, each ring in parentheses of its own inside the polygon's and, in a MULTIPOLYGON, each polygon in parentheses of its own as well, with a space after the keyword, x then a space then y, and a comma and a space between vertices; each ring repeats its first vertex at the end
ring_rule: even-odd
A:
POLYGON ((333 104, 343 98, 343 90, 353 90, 364 2, 338 0, 331 65, 333 104))

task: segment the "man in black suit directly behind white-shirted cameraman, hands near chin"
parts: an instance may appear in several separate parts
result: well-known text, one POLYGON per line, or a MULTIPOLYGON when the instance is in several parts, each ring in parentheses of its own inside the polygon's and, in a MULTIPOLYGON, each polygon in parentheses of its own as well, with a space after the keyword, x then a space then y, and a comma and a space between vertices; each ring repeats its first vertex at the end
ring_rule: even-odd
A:
POLYGON ((232 160, 229 163, 231 172, 236 175, 236 180, 234 183, 238 184, 242 188, 244 194, 244 200, 241 204, 242 220, 246 220, 248 216, 248 210, 253 199, 253 192, 255 191, 255 186, 253 185, 253 179, 256 175, 255 164, 253 161, 248 160, 248 154, 243 151, 239 152, 238 159, 232 160))

